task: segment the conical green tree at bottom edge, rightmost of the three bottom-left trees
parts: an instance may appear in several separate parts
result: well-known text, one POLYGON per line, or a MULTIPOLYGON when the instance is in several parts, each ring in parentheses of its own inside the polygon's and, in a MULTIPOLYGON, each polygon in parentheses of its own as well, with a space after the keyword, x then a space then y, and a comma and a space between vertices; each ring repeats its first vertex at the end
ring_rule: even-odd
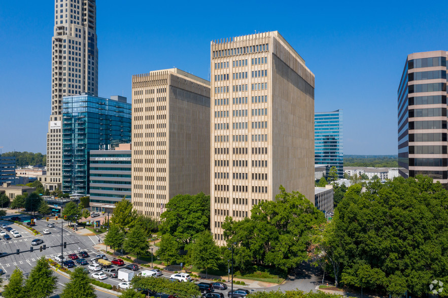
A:
POLYGON ((83 268, 75 268, 70 276, 70 282, 65 284, 60 297, 96 298, 95 288, 90 283, 90 278, 83 268))

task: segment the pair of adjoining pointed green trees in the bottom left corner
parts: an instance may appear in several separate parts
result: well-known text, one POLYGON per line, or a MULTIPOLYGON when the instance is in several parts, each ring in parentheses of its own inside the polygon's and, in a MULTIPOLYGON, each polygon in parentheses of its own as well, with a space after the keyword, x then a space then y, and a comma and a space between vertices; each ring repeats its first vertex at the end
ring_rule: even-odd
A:
POLYGON ((5 298, 47 298, 53 295, 56 283, 57 277, 53 275, 48 260, 41 257, 26 279, 20 269, 16 268, 2 295, 5 298))

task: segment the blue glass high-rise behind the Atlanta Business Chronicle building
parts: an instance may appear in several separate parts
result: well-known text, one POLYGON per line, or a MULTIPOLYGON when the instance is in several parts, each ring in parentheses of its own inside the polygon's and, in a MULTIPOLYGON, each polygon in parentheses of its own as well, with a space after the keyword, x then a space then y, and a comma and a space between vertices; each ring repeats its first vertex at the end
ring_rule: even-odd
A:
POLYGON ((83 94, 64 97, 62 108, 62 191, 87 195, 89 152, 130 142, 131 104, 83 94))

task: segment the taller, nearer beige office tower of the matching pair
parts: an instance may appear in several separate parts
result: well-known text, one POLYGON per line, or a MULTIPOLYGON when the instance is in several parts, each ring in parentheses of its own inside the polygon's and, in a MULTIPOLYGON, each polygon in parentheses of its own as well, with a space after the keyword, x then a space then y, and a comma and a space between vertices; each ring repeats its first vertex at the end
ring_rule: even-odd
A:
POLYGON ((314 205, 314 74, 277 31, 211 43, 211 226, 241 220, 280 185, 314 205))

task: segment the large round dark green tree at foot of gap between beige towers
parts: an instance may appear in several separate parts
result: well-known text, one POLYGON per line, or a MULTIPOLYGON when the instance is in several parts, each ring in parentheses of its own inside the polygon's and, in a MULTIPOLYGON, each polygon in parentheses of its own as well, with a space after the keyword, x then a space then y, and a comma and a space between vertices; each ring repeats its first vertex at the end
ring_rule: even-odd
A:
POLYGON ((173 235, 188 244, 194 235, 210 229, 210 196, 203 193, 177 195, 165 207, 166 211, 160 216, 162 234, 173 235))

